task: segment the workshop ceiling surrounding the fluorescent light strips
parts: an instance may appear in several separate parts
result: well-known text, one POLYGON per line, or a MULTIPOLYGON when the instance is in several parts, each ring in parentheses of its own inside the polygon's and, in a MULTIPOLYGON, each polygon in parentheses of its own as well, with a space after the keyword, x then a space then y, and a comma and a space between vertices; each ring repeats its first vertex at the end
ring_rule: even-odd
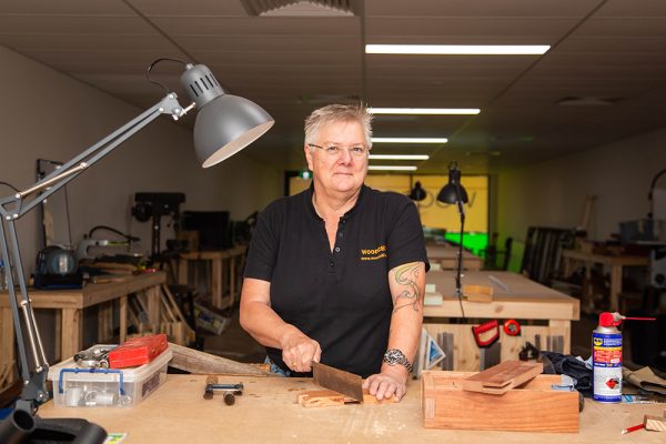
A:
MULTIPOLYGON (((275 118, 246 153, 284 169, 304 167, 303 119, 332 101, 480 108, 478 115, 375 119, 377 137, 450 139, 373 148, 431 154, 406 162, 418 173, 441 173, 454 159, 466 174, 497 172, 666 127, 665 0, 329 1, 350 2, 359 14, 251 17, 241 0, 2 0, 0 44, 143 109, 163 95, 145 80, 151 61, 204 63, 275 118), (552 49, 384 56, 365 54, 366 43, 552 49), (615 104, 556 103, 567 97, 615 104)), ((181 71, 162 63, 153 78, 179 92, 181 71)))

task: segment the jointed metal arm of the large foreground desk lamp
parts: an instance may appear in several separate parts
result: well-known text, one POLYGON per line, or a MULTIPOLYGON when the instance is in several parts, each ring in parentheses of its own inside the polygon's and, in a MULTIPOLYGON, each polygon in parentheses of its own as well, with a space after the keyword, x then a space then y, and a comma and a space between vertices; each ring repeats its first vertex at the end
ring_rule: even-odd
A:
POLYGON ((104 158, 121 143, 155 120, 160 114, 170 114, 174 120, 178 120, 192 108, 194 108, 193 104, 183 109, 178 102, 175 93, 169 93, 159 103, 125 123, 94 145, 88 148, 85 151, 63 164, 60 169, 39 180, 36 184, 23 191, 19 191, 11 196, 0 199, 0 215, 2 216, 0 223, 0 253, 2 254, 6 264, 10 306, 19 350, 19 361, 21 363, 21 377, 23 380, 23 390, 20 400, 17 401, 17 410, 23 410, 33 415, 37 411, 37 406, 40 403, 48 401, 49 394, 46 387, 46 380, 49 364, 34 320, 34 312, 32 310, 32 303, 23 274, 19 242, 14 226, 16 221, 71 180, 79 176, 84 170, 104 158), (34 196, 28 204, 23 205, 26 198, 30 198, 41 190, 46 191, 34 196), (18 281, 20 290, 20 301, 17 299, 14 278, 18 281), (29 350, 26 346, 22 326, 26 327, 28 342, 30 344, 29 350), (32 361, 34 362, 32 371, 28 365, 28 352, 30 352, 32 361))

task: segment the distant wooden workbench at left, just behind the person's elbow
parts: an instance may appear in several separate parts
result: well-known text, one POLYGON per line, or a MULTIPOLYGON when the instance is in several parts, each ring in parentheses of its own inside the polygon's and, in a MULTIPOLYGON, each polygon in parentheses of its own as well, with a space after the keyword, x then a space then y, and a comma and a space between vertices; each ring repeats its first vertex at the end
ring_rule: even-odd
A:
MULTIPOLYGON (((229 250, 214 251, 192 251, 182 253, 178 265, 178 282, 181 285, 196 287, 199 282, 192 285, 190 279, 190 262, 210 263, 208 273, 208 292, 211 295, 211 303, 214 307, 224 310, 233 305, 236 292, 240 290, 238 284, 236 262, 240 262, 245 255, 245 245, 238 245, 229 250), (225 291, 225 284, 229 284, 229 291, 225 291)), ((198 273, 194 273, 194 281, 198 281, 198 273)))

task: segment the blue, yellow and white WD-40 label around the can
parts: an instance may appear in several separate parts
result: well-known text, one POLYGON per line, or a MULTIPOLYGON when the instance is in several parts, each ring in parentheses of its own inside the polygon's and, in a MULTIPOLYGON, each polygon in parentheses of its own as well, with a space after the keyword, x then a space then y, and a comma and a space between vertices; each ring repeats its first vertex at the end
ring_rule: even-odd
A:
POLYGON ((594 400, 622 401, 622 334, 593 333, 594 400))

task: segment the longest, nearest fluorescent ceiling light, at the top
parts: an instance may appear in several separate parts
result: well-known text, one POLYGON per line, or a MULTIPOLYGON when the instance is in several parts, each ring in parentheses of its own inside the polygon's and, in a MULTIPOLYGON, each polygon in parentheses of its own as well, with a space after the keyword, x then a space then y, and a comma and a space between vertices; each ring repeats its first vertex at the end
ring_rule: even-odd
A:
POLYGON ((541 56, 548 44, 366 44, 367 54, 541 56))

